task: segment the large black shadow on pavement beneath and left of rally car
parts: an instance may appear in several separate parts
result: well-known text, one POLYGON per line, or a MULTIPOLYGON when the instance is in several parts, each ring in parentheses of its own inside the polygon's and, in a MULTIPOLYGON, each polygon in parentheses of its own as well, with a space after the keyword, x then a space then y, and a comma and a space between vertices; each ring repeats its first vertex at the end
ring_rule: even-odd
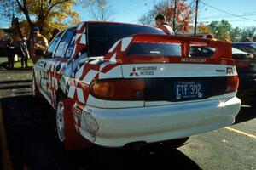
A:
POLYGON ((3 122, 14 169, 200 169, 180 150, 139 156, 131 150, 65 151, 56 139, 55 113, 44 100, 32 96, 2 99, 3 122))

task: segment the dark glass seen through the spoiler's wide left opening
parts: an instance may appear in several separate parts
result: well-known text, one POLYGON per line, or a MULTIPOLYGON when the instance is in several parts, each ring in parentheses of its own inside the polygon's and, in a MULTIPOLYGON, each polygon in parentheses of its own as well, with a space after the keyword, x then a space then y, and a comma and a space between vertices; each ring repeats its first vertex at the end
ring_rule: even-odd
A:
POLYGON ((126 56, 181 56, 180 44, 174 43, 132 43, 126 56))

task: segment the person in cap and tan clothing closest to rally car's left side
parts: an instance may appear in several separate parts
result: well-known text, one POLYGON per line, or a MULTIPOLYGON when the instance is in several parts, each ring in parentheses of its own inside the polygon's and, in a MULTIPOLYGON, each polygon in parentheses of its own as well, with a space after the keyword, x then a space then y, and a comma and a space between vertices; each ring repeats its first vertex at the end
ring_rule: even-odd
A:
POLYGON ((32 28, 32 37, 30 38, 30 54, 33 64, 35 64, 40 56, 36 54, 37 50, 45 51, 48 47, 48 41, 46 37, 42 36, 38 27, 32 28))

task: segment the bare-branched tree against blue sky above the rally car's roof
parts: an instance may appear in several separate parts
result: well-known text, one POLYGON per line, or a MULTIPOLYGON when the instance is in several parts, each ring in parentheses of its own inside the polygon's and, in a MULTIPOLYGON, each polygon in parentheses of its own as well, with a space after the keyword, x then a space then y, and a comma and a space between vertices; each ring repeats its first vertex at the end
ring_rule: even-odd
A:
POLYGON ((112 20, 114 11, 109 5, 108 0, 96 0, 95 3, 90 6, 90 12, 94 20, 112 20))

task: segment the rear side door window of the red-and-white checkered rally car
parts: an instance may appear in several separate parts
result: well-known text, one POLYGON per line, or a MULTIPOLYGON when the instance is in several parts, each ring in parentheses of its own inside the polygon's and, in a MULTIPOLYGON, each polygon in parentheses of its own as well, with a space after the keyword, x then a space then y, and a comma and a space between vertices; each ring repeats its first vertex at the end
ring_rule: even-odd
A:
POLYGON ((73 39, 74 32, 75 32, 74 28, 70 28, 65 32, 64 36, 61 38, 61 42, 58 44, 58 47, 56 48, 55 58, 64 57, 64 55, 66 54, 69 42, 71 42, 71 40, 73 39))

